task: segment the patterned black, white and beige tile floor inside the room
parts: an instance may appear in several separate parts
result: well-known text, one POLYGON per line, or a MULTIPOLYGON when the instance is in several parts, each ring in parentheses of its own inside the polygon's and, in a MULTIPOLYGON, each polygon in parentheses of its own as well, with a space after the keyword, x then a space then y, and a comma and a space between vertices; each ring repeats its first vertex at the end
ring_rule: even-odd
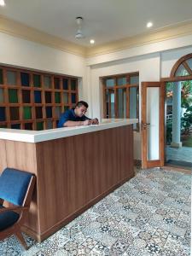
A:
POLYGON ((191 176, 148 169, 24 252, 14 236, 0 241, 0 255, 190 254, 191 176))

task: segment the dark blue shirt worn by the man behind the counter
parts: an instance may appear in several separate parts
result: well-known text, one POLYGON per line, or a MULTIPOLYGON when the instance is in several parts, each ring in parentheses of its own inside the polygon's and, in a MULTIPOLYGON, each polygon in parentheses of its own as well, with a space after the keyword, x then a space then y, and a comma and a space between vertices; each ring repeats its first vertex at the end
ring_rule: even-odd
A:
POLYGON ((63 125, 67 121, 85 121, 86 119, 89 119, 89 118, 86 117, 85 115, 83 115, 82 117, 76 116, 75 113, 74 113, 74 108, 69 109, 64 113, 61 113, 61 116, 60 116, 59 123, 58 123, 57 127, 58 128, 63 127, 63 125))

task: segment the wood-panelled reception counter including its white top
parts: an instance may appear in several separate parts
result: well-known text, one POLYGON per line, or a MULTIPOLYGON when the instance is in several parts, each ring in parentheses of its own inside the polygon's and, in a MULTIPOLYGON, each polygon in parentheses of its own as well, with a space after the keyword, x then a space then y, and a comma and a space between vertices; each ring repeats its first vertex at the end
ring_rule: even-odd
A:
POLYGON ((137 119, 46 131, 0 129, 0 172, 35 173, 37 186, 24 230, 43 241, 134 176, 137 119))

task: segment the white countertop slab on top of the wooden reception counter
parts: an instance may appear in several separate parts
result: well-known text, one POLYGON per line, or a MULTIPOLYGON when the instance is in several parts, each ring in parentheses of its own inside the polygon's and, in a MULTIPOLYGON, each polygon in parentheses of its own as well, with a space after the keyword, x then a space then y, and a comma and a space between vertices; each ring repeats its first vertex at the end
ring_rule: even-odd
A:
POLYGON ((24 143, 40 143, 61 137, 70 137, 124 125, 132 125, 136 124, 137 122, 138 119, 102 119, 102 122, 99 125, 63 127, 44 131, 26 131, 0 128, 0 139, 24 143))

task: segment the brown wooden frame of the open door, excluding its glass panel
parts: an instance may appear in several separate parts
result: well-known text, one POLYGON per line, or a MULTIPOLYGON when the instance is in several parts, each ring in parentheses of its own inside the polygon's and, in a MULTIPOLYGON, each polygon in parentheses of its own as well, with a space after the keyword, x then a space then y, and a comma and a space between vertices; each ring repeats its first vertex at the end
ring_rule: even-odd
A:
POLYGON ((142 167, 161 167, 164 166, 165 162, 165 82, 142 82, 142 167), (148 87, 159 87, 160 88, 160 133, 159 133, 159 160, 148 160, 148 140, 147 140, 147 88, 148 87))

